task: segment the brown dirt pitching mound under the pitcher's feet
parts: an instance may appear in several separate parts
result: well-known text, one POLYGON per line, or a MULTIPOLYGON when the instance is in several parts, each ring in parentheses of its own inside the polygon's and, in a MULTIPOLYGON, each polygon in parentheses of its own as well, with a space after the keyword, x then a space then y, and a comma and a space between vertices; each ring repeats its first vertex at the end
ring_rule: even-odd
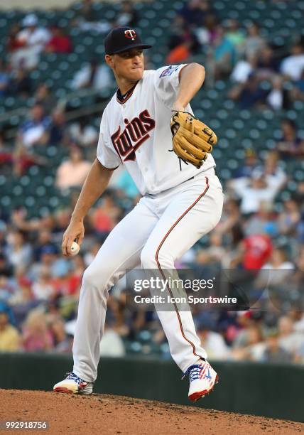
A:
MULTIPOLYGON (((92 394, 0 390, 0 420, 48 421, 33 434, 298 434, 303 423, 266 419, 213 409, 92 394)), ((16 434, 20 430, 1 433, 16 434)))

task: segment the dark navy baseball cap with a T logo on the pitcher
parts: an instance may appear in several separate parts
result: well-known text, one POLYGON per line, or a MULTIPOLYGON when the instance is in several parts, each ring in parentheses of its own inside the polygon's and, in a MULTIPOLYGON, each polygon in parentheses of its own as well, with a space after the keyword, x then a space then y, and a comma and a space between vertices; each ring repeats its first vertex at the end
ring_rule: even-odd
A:
POLYGON ((116 27, 104 39, 104 51, 112 55, 132 48, 151 48, 141 41, 139 33, 130 27, 116 27))

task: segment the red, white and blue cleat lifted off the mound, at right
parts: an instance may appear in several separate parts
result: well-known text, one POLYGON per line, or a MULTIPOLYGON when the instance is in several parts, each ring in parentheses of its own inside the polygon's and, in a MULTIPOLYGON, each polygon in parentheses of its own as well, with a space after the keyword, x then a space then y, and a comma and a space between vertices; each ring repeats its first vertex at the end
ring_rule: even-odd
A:
POLYGON ((192 402, 196 402, 212 392, 219 379, 217 372, 212 369, 207 361, 203 360, 200 364, 191 365, 185 375, 189 375, 188 397, 192 402))

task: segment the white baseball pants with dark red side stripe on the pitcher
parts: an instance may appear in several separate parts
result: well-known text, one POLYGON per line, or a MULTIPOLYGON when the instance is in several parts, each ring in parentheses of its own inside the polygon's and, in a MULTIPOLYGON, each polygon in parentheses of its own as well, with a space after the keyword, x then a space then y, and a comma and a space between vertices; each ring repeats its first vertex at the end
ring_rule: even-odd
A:
MULTIPOLYGON (((146 195, 99 249, 82 278, 73 356, 76 375, 87 382, 97 378, 99 344, 104 331, 109 289, 127 269, 174 269, 222 214, 223 193, 214 170, 200 173, 158 195, 146 195)), ((185 372, 207 358, 190 311, 158 311, 175 363, 185 372)))

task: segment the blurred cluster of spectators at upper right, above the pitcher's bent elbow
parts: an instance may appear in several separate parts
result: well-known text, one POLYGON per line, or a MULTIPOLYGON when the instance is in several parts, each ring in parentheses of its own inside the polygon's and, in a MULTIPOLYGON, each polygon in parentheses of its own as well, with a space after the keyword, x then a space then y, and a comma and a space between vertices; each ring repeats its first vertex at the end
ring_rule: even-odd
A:
POLYGON ((230 79, 230 97, 241 109, 288 109, 304 99, 304 40, 291 46, 270 43, 258 22, 246 28, 237 19, 219 21, 212 2, 190 0, 175 16, 168 41, 170 63, 186 63, 205 54, 207 83, 230 79))

